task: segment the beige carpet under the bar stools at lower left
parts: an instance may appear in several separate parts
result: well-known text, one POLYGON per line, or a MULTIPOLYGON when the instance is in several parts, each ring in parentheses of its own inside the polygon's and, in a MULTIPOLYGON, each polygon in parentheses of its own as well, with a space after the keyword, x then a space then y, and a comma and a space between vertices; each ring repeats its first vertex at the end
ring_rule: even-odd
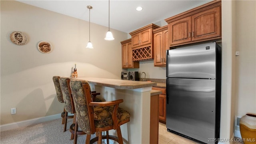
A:
MULTIPOLYGON (((6 130, 1 132, 0 144, 73 144, 70 140, 69 127, 72 120, 68 119, 67 130, 63 132, 62 119, 51 120, 40 124, 6 130)), ((91 136, 91 139, 95 134, 91 136)), ((77 144, 84 144, 86 135, 78 135, 77 144)))

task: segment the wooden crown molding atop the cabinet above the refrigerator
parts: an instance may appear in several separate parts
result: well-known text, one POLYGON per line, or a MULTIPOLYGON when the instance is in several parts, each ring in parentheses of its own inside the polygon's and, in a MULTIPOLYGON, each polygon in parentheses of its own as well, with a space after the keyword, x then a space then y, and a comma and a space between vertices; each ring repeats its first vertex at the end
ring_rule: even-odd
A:
POLYGON ((170 23, 170 22, 178 20, 180 18, 184 18, 186 16, 191 16, 193 14, 196 14, 198 12, 202 12, 203 10, 206 10, 208 8, 211 8, 211 7, 214 8, 216 6, 221 6, 221 0, 214 0, 212 2, 208 2, 206 4, 203 4, 202 6, 198 6, 196 8, 191 9, 191 10, 188 10, 186 12, 182 12, 181 14, 178 14, 176 16, 172 16, 170 18, 167 18, 167 19, 165 19, 165 21, 167 23, 170 23))

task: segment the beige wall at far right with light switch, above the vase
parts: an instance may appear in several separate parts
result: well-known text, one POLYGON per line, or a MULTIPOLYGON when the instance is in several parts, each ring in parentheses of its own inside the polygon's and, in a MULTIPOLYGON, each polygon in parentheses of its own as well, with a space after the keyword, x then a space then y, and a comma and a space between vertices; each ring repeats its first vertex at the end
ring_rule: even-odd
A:
POLYGON ((236 115, 256 114, 256 1, 236 1, 236 115))

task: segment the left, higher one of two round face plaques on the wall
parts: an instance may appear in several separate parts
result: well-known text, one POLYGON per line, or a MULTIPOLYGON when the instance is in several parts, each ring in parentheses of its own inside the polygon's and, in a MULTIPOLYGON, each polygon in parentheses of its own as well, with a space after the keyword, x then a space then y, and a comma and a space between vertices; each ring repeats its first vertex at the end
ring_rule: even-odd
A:
POLYGON ((12 32, 10 34, 10 40, 17 45, 23 45, 26 44, 28 38, 25 34, 23 34, 22 32, 12 32))

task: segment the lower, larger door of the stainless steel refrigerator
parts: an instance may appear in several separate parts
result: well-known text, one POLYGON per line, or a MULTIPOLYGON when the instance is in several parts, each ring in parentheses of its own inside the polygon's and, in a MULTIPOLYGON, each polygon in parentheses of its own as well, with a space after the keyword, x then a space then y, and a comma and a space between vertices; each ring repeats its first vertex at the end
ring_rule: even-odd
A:
POLYGON ((215 138, 215 81, 167 78, 166 128, 211 144, 208 138, 215 138))

